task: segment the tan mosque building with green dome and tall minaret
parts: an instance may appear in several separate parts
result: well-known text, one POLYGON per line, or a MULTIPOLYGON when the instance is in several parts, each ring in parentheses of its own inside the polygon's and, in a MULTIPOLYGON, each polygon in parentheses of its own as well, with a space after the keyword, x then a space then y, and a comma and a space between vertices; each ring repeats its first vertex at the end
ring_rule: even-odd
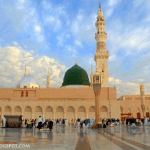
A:
POLYGON ((141 84, 141 95, 123 95, 117 100, 116 87, 109 87, 108 58, 106 50, 106 22, 99 7, 95 26, 97 49, 94 60, 96 72, 91 68, 91 82, 87 72, 77 63, 64 75, 62 86, 50 87, 48 70, 46 88, 40 88, 37 80, 29 73, 18 83, 16 88, 0 89, 0 116, 22 115, 23 118, 45 119, 95 118, 95 98, 93 84, 101 83, 99 93, 100 118, 149 117, 150 95, 144 95, 141 84))

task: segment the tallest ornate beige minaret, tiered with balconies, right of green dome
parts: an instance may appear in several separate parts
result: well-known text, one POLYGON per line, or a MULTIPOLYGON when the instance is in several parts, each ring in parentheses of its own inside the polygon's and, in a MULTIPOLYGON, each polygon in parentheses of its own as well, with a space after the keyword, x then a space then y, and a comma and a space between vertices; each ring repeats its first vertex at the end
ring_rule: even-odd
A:
POLYGON ((106 39, 107 39, 107 34, 105 33, 106 22, 104 21, 104 15, 101 6, 99 6, 99 11, 97 14, 97 21, 95 23, 95 26, 97 28, 97 33, 95 34, 97 49, 95 52, 94 60, 96 62, 97 71, 102 78, 101 87, 108 87, 109 53, 106 50, 106 39))

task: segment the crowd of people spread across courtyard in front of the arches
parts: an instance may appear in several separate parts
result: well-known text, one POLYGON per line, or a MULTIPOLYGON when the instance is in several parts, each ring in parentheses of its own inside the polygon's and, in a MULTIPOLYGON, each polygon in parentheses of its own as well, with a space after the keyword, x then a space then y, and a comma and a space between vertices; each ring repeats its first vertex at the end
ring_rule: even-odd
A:
MULTIPOLYGON (((99 126, 100 128, 106 128, 108 125, 109 126, 115 126, 119 125, 120 120, 119 119, 100 119, 99 126)), ((139 125, 150 125, 150 119, 149 118, 130 118, 130 119, 122 119, 121 120, 122 124, 126 124, 131 127, 136 127, 139 125)), ((44 119, 41 116, 39 116, 38 119, 22 119, 22 116, 19 117, 19 126, 18 127, 27 127, 27 128, 38 128, 39 131, 42 128, 49 128, 51 131, 53 128, 53 125, 56 126, 68 126, 68 125, 73 125, 75 128, 80 127, 80 128, 93 128, 95 125, 95 119, 83 119, 83 118, 78 118, 78 119, 44 119)), ((7 120, 5 117, 2 118, 1 120, 1 126, 2 127, 7 127, 7 120)))

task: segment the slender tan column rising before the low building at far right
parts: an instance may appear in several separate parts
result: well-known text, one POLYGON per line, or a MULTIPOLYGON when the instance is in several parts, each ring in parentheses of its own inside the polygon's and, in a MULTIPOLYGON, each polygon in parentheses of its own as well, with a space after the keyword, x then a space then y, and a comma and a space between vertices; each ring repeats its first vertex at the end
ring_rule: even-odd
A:
POLYGON ((141 95, 141 108, 143 112, 143 117, 145 117, 145 94, 144 94, 144 85, 140 85, 140 95, 141 95))

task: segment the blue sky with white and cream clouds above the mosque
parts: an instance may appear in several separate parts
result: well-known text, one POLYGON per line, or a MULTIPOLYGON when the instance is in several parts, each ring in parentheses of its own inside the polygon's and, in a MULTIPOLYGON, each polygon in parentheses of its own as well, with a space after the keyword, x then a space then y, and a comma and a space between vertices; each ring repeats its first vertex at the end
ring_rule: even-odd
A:
MULTIPOLYGON (((77 61, 90 79, 98 0, 0 0, 0 87, 14 88, 24 67, 46 87, 60 87, 77 61)), ((106 21, 109 86, 117 97, 150 94, 150 3, 101 0, 106 21)))

